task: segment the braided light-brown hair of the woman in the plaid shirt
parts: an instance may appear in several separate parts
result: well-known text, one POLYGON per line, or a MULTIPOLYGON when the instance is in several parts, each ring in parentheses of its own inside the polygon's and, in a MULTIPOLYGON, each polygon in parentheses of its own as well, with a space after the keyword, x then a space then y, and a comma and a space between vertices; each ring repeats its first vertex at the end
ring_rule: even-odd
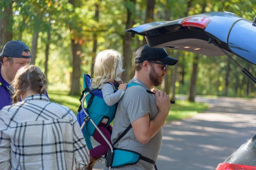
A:
POLYGON ((14 90, 12 103, 17 103, 20 94, 24 94, 28 90, 35 91, 38 94, 46 94, 47 80, 40 68, 35 65, 26 65, 17 71, 11 87, 14 90))

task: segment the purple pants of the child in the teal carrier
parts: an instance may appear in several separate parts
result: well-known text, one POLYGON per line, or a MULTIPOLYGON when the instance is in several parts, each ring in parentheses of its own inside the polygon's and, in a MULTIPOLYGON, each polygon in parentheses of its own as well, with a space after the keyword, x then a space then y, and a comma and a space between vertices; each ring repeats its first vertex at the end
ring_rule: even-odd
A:
MULTIPOLYGON (((106 124, 100 123, 99 129, 102 131, 102 133, 105 135, 105 137, 108 139, 108 141, 111 143, 111 134, 113 127, 109 125, 107 128, 105 127, 106 124)), ((98 130, 95 130, 93 134, 93 138, 100 143, 99 146, 94 147, 90 150, 90 155, 93 158, 98 158, 102 155, 105 155, 109 149, 108 143, 102 138, 102 136, 99 134, 98 130)))

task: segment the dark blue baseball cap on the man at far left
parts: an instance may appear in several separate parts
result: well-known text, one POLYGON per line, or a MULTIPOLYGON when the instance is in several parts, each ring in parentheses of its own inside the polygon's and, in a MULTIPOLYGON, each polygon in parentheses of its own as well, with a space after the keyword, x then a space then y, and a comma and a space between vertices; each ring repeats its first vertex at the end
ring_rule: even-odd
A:
MULTIPOLYGON (((3 46, 3 52, 0 53, 0 57, 5 55, 7 57, 15 57, 15 58, 26 58, 29 59, 32 57, 31 53, 30 56, 23 56, 22 53, 25 50, 29 50, 29 47, 22 41, 19 40, 12 40, 6 43, 3 46)), ((30 51, 29 51, 30 52, 30 51)))

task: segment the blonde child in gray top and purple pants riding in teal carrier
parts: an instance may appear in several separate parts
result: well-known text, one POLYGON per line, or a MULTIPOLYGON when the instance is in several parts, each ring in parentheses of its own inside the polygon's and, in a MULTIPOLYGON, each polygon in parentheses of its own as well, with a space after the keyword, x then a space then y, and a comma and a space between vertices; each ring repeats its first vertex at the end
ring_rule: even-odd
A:
MULTIPOLYGON (((123 71, 122 57, 119 52, 109 49, 97 54, 93 68, 94 78, 91 79, 90 88, 101 89, 103 99, 108 106, 115 105, 125 94, 127 84, 122 82, 120 78, 123 71), (119 86, 117 87, 117 85, 119 86)), ((106 127, 107 124, 110 123, 108 121, 109 119, 104 117, 98 127, 108 141, 111 142, 112 126, 108 125, 108 127, 106 127)), ((98 160, 100 156, 105 155, 109 149, 107 142, 105 142, 97 130, 95 130, 93 138, 99 142, 100 145, 90 150, 90 166, 92 167, 95 161, 98 160)))

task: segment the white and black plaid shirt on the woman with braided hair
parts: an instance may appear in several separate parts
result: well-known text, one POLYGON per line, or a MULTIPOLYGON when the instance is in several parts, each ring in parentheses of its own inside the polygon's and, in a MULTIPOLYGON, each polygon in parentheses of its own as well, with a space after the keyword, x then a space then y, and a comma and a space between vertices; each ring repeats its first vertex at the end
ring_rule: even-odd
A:
POLYGON ((0 111, 0 170, 84 169, 89 160, 76 116, 66 106, 36 94, 0 111))

